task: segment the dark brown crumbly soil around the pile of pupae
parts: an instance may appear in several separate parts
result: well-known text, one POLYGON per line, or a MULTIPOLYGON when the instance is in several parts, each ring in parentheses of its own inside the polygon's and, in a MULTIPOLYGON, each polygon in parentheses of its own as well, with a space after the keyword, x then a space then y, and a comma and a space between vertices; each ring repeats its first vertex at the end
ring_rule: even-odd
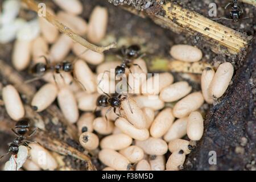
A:
MULTIPOLYGON (((158 3, 155 0, 108 0, 114 5, 129 5, 136 10, 143 10, 152 13, 156 10, 158 3), (152 8, 154 7, 154 8, 152 8), (148 10, 148 11, 147 11, 148 10)), ((205 119, 205 131, 203 139, 197 143, 195 150, 187 156, 185 169, 193 170, 252 170, 255 169, 255 141, 256 141, 256 42, 254 47, 250 47, 251 52, 246 59, 240 56, 229 57, 226 55, 216 55, 207 47, 207 42, 201 39, 200 35, 175 34, 170 30, 164 29, 156 25, 150 18, 140 18, 136 15, 128 13, 120 7, 110 4, 107 0, 84 0, 84 13, 82 16, 89 19, 89 15, 96 5, 108 7, 109 24, 108 34, 113 35, 117 42, 123 38, 129 38, 129 43, 139 43, 145 52, 147 59, 151 56, 168 57, 170 47, 173 44, 191 44, 199 47, 203 53, 203 60, 212 65, 216 65, 225 61, 230 61, 235 65, 236 71, 228 91, 225 96, 218 100, 218 104, 211 107, 205 119), (254 51, 254 52, 253 52, 254 51), (214 64, 216 63, 216 64, 214 64), (247 142, 244 142, 246 138, 247 142), (210 166, 208 163, 209 151, 216 151, 217 165, 210 166)), ((57 7, 51 2, 54 9, 57 7)), ((213 0, 177 0, 179 5, 190 10, 195 10, 200 14, 208 17, 208 5, 215 2, 218 6, 218 17, 227 16, 228 12, 224 11, 226 1, 213 0)), ((2 0, 0 0, 0 7, 2 0)), ((241 5, 246 16, 256 16, 255 7, 242 3, 241 5)), ((157 11, 160 13, 160 10, 157 11)), ((31 16, 31 14, 30 14, 31 16)), ((241 22, 232 23, 231 21, 218 21, 225 26, 233 28, 237 31, 244 32, 247 35, 255 35, 256 20, 243 19, 241 22)), ((255 38, 254 38, 255 39, 255 38)), ((0 59, 6 63, 11 63, 11 49, 13 43, 0 44, 0 59)), ((113 53, 115 50, 106 52, 113 53)), ((27 78, 26 71, 22 75, 27 78)), ((1 77, 1 76, 0 76, 1 77)), ((2 78, 1 78, 2 79, 2 78)), ((38 85, 41 82, 37 82, 38 85)), ((194 88, 195 89, 195 88, 194 88)), ((197 88, 196 88, 197 89, 197 88)), ((4 110, 3 107, 0 110, 4 110)), ((2 115, 0 116, 2 117, 2 115)), ((48 116, 47 116, 48 117, 48 116)), ((77 143, 68 138, 64 134, 65 126, 54 125, 49 119, 46 128, 49 132, 56 135, 57 138, 65 138, 65 141, 71 146, 82 150, 77 143), (63 137, 65 135, 65 137, 63 137)), ((7 149, 7 142, 13 137, 0 132, 0 155, 4 154, 7 149)), ((74 169, 81 169, 84 164, 71 157, 65 158, 65 161, 71 164, 74 169)), ((4 160, 0 161, 3 164, 4 160)), ((98 169, 102 168, 97 159, 93 159, 98 169)))

